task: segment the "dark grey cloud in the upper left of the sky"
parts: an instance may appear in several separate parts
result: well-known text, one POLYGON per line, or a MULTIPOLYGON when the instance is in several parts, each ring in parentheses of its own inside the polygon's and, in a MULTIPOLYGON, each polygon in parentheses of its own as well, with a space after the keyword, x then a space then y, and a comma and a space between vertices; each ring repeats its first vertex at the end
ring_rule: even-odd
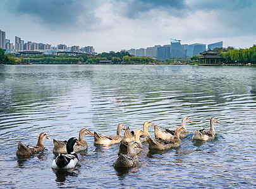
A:
POLYGON ((88 26, 99 21, 94 10, 97 1, 80 0, 13 0, 6 8, 14 14, 35 16, 42 24, 51 26, 78 26, 80 21, 88 26))

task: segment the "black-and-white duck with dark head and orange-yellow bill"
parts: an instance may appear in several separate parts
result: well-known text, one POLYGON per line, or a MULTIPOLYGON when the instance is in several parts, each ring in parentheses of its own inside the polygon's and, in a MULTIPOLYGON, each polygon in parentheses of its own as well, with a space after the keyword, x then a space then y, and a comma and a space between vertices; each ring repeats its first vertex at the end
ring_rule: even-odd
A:
POLYGON ((66 144, 66 151, 68 154, 59 154, 56 159, 52 161, 52 169, 71 169, 75 168, 79 159, 77 154, 74 152, 74 146, 80 145, 83 146, 75 137, 71 137, 66 144))

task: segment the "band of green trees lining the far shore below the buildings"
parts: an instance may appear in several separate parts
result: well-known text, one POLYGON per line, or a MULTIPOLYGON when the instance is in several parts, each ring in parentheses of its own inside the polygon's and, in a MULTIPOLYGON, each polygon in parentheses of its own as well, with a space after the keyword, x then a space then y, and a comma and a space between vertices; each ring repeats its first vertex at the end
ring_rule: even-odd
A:
MULTIPOLYGON (((249 49, 235 49, 234 47, 216 48, 222 56, 221 62, 217 65, 226 66, 255 66, 256 65, 256 44, 249 49)), ((0 64, 199 64, 195 55, 190 59, 165 59, 155 60, 149 57, 135 57, 128 52, 103 52, 97 55, 15 55, 4 54, 0 49, 0 64)))

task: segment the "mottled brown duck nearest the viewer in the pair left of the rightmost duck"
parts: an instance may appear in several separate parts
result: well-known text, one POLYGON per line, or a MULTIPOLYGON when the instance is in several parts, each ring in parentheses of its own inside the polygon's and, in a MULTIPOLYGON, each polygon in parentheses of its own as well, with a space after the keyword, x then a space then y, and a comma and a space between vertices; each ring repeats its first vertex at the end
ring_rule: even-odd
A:
POLYGON ((157 149, 157 150, 165 150, 169 149, 171 147, 179 147, 181 144, 181 140, 179 138, 180 132, 186 132, 186 129, 184 127, 177 127, 177 129, 174 132, 173 139, 170 140, 164 140, 164 139, 152 139, 150 135, 147 137, 147 142, 149 142, 149 149, 157 149))

